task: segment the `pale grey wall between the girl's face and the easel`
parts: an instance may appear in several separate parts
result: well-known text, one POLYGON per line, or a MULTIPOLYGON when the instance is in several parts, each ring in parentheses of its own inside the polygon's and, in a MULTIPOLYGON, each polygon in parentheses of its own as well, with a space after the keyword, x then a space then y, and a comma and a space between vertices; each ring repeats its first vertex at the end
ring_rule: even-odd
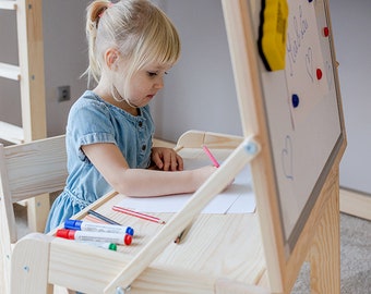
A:
POLYGON ((177 140, 192 128, 240 135, 220 1, 163 2, 179 30, 182 56, 154 101, 157 135, 177 140))

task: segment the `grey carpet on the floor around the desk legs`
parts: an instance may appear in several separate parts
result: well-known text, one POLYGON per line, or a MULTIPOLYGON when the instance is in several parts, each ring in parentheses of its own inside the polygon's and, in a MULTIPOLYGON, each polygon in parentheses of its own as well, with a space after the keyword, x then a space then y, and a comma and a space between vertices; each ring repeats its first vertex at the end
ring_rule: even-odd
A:
MULTIPOLYGON (((17 207, 19 233, 28 233, 25 209, 17 207)), ((342 294, 371 293, 371 221, 340 215, 342 294)), ((309 264, 304 264, 291 294, 309 294, 309 264)), ((326 294, 326 293, 320 293, 326 294)))

